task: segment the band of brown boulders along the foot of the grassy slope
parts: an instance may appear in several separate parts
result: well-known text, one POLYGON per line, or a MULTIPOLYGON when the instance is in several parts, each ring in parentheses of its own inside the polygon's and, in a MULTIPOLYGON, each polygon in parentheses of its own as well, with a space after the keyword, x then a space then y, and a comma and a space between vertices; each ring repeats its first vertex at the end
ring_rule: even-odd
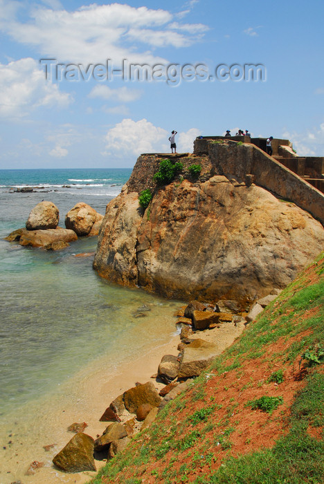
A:
MULTIPOLYGON (((101 435, 84 433, 86 422, 74 422, 69 426, 68 430, 75 432, 75 436, 54 456, 55 467, 73 474, 93 472, 125 449, 134 435, 154 422, 165 404, 186 391, 215 356, 244 331, 246 324, 276 299, 280 290, 272 292, 260 299, 249 313, 242 313, 237 301, 233 300, 220 300, 215 305, 191 301, 179 308, 175 315, 180 339, 177 353, 163 355, 150 381, 136 382, 134 387, 110 402, 99 418, 100 422, 109 422, 101 435)), ((143 313, 148 308, 140 309, 143 313)), ((138 379, 142 377, 139 373, 138 379)), ((37 468, 32 471, 35 474, 37 468)))

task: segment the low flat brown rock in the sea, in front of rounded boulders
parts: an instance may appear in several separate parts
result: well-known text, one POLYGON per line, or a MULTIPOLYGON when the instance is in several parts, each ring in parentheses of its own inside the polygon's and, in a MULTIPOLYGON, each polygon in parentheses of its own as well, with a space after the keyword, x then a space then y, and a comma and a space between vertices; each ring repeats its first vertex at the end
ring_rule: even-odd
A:
POLYGON ((78 240, 78 236, 73 230, 57 227, 56 229, 47 230, 26 230, 26 232, 21 234, 19 243, 28 247, 46 248, 46 246, 54 242, 72 242, 76 240, 78 240))

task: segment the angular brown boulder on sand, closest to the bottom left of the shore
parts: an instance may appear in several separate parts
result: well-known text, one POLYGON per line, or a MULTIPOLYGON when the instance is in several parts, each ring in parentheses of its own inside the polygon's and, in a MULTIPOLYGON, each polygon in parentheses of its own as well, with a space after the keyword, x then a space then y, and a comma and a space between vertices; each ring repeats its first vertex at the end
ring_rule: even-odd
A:
POLYGON ((93 438, 79 432, 53 458, 53 464, 65 472, 95 471, 93 438))

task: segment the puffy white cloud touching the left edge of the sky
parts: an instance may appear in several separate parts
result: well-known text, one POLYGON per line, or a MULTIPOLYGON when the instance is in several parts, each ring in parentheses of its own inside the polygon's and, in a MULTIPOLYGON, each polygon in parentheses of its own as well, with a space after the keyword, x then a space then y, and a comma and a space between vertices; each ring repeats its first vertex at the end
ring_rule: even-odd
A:
POLYGON ((24 118, 39 106, 66 107, 72 98, 45 80, 39 64, 30 58, 0 64, 0 116, 24 118))

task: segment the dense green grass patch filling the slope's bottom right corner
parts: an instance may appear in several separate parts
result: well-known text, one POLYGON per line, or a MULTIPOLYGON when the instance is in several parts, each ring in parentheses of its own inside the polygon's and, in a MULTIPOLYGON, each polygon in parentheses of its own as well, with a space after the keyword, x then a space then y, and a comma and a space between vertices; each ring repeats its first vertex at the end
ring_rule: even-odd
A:
POLYGON ((324 375, 312 373, 291 407, 290 431, 272 449, 227 458, 207 483, 323 483, 324 442, 307 434, 309 425, 323 425, 324 375))

